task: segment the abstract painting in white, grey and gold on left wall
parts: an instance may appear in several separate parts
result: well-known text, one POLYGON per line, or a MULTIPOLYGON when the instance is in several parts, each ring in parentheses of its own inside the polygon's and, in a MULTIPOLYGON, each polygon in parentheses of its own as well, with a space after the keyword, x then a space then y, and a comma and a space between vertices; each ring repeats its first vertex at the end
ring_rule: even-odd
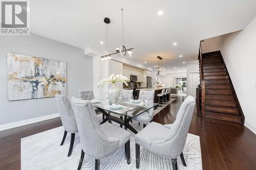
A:
POLYGON ((67 94, 66 63, 7 53, 8 101, 67 94))

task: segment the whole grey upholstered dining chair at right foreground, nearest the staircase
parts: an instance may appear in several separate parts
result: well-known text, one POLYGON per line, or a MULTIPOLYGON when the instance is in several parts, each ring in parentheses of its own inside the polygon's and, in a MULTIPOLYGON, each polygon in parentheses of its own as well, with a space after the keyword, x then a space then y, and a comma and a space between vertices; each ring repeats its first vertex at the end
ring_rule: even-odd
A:
POLYGON ((161 125, 152 122, 135 135, 136 168, 140 163, 140 145, 154 153, 172 159, 173 169, 177 170, 177 157, 180 156, 186 166, 183 156, 188 129, 194 112, 195 99, 187 96, 180 106, 177 118, 173 124, 161 125))

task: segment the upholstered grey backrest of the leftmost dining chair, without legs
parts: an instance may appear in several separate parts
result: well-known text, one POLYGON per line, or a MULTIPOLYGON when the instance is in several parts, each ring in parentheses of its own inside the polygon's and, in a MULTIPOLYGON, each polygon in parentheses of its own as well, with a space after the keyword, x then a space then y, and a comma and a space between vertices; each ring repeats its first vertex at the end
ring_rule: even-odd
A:
POLYGON ((75 114, 68 97, 56 94, 55 99, 64 130, 71 133, 77 132, 75 114))

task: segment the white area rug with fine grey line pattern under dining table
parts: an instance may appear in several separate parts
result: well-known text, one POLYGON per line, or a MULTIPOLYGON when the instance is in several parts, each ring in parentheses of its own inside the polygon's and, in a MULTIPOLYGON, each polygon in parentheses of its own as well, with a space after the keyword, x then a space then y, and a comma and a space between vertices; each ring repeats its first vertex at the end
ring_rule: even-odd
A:
MULTIPOLYGON (((117 125, 117 124, 115 124, 117 125)), ((142 126, 131 123, 138 131, 142 126)), ((119 126, 119 125, 117 125, 119 126)), ((21 168, 24 169, 77 169, 81 154, 79 135, 76 134, 72 155, 68 157, 70 133, 65 143, 60 146, 63 137, 63 127, 58 127, 45 132, 37 133, 21 139, 21 168)), ((136 169, 134 133, 131 135, 131 164, 125 162, 124 147, 114 154, 100 161, 100 169, 136 169)), ((188 134, 183 150, 187 166, 183 166, 178 157, 179 169, 202 169, 201 149, 199 136, 188 134)), ((168 158, 156 155, 140 147, 140 169, 172 169, 172 162, 168 158)), ((94 169, 94 159, 84 156, 82 169, 94 169)))

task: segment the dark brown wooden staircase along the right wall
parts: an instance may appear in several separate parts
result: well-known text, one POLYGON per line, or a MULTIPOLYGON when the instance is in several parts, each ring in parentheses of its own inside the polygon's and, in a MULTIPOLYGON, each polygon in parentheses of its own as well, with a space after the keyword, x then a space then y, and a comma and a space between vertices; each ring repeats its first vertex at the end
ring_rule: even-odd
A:
POLYGON ((244 116, 220 51, 202 54, 204 116, 243 124, 244 116))

